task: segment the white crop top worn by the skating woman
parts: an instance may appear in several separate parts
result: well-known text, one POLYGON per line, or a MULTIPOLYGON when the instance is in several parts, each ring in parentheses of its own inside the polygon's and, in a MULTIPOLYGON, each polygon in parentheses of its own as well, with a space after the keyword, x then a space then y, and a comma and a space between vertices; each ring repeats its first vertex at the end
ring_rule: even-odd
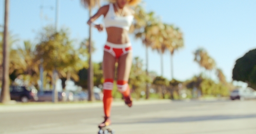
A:
POLYGON ((123 28, 129 31, 131 23, 133 21, 133 16, 117 16, 115 14, 114 5, 109 4, 108 12, 104 18, 105 28, 117 27, 123 28))

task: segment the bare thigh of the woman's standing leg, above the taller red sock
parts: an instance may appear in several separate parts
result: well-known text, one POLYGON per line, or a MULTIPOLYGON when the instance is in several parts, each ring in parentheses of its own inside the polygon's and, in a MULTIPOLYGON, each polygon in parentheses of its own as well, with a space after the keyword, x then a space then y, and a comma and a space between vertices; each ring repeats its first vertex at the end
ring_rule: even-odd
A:
POLYGON ((114 77, 115 77, 115 62, 116 62, 116 58, 112 54, 104 51, 102 69, 103 69, 103 77, 105 79, 106 78, 114 79, 114 77))

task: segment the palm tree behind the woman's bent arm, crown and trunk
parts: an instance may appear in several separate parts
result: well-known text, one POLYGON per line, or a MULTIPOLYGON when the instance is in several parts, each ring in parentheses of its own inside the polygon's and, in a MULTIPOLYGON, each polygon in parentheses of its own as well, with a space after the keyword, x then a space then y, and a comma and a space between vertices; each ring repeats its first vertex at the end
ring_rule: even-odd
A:
MULTIPOLYGON (((89 9, 89 16, 92 16, 92 8, 96 5, 99 5, 100 0, 81 0, 83 6, 89 9)), ((91 35, 92 35, 92 27, 89 27, 89 69, 88 69, 88 100, 94 100, 93 97, 93 64, 92 64, 92 46, 91 46, 91 35)))

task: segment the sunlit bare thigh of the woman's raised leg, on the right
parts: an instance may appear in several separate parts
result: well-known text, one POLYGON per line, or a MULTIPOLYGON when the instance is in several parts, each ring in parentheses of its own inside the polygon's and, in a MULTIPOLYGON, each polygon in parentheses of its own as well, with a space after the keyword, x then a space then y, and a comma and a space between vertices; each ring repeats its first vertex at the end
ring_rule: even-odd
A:
POLYGON ((117 80, 128 81, 132 64, 132 52, 126 53, 118 59, 117 80))

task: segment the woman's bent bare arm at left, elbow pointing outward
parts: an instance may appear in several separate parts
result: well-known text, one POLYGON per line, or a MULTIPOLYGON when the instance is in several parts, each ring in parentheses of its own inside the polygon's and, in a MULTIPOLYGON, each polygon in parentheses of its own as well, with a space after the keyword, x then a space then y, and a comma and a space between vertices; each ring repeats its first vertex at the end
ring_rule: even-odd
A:
POLYGON ((95 28, 98 29, 98 31, 102 31, 103 30, 103 25, 101 24, 94 24, 93 22, 98 19, 98 17, 100 17, 101 15, 106 15, 108 12, 108 5, 106 6, 102 6, 101 8, 98 9, 98 12, 95 13, 94 16, 92 16, 88 21, 87 21, 87 24, 88 25, 91 25, 95 28))

